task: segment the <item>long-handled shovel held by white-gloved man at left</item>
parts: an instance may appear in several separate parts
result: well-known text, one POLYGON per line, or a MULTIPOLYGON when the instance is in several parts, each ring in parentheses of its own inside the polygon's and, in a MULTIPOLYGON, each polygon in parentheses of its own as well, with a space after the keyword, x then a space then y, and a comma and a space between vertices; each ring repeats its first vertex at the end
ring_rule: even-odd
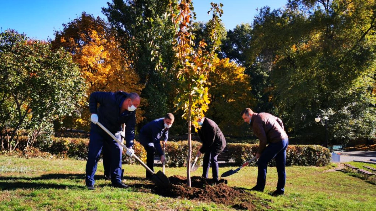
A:
MULTIPOLYGON (((104 131, 106 131, 106 133, 111 136, 111 138, 113 138, 120 146, 122 146, 125 150, 127 150, 128 148, 123 144, 121 143, 121 141, 119 141, 115 136, 114 134, 112 134, 110 131, 108 131, 107 128, 105 128, 105 126, 103 126, 100 122, 97 123, 97 125, 102 128, 104 131)), ((162 187, 162 188, 168 188, 170 187, 170 181, 168 180, 168 177, 162 173, 161 171, 158 171, 157 173, 154 173, 143 161, 141 161, 141 159, 139 159, 135 154, 132 155, 133 158, 135 158, 141 165, 143 165, 143 167, 146 168, 146 170, 148 170, 150 173, 152 173, 152 178, 150 178, 154 184, 156 184, 157 186, 159 187, 162 187)))

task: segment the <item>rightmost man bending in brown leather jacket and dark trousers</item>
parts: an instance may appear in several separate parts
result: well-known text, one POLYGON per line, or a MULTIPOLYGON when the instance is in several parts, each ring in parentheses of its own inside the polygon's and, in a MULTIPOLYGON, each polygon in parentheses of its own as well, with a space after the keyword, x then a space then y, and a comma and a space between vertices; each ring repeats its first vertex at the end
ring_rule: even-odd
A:
POLYGON ((252 126, 253 133, 260 140, 256 153, 256 158, 258 158, 257 183, 251 190, 264 191, 268 163, 275 157, 278 182, 277 190, 272 193, 272 196, 283 195, 286 183, 285 164, 288 137, 282 120, 268 113, 255 113, 250 108, 244 109, 241 115, 243 120, 252 126))

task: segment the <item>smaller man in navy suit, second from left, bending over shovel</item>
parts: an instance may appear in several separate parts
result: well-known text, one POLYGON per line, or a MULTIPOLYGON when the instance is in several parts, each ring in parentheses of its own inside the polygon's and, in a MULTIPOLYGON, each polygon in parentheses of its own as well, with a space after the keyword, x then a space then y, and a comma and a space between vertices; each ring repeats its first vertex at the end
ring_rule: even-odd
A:
MULTIPOLYGON (((164 143, 168 139, 168 129, 174 122, 174 115, 168 113, 164 118, 159 118, 147 123, 139 132, 139 142, 146 150, 146 165, 154 172, 154 155, 155 151, 161 156, 161 162, 165 161, 165 155, 159 140, 163 138, 164 143)), ((152 174, 146 171, 146 178, 150 178, 152 174)))

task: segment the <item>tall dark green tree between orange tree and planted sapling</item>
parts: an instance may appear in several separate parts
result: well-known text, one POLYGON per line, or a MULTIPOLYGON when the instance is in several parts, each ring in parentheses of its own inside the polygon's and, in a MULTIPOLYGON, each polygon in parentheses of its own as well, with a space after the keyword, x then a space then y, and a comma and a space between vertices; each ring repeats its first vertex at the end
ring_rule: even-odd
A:
POLYGON ((141 97, 148 102, 141 103, 141 108, 145 111, 146 119, 140 126, 173 109, 170 102, 174 99, 173 85, 176 79, 175 73, 170 70, 174 30, 171 21, 165 17, 169 2, 112 0, 107 3, 107 8, 102 8, 103 14, 117 32, 120 46, 126 53, 127 64, 145 86, 141 97))

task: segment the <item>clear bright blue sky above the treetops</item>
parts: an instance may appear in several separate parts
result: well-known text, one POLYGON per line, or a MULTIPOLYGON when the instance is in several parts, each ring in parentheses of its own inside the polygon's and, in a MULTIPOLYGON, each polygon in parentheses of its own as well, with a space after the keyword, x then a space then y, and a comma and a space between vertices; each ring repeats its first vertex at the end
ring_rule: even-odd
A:
MULTIPOLYGON (((61 30, 63 23, 77 18, 83 11, 94 16, 102 14, 109 0, 0 0, 0 31, 15 29, 33 39, 54 38, 53 30, 61 30)), ((221 17, 226 29, 241 23, 252 23, 256 8, 283 7, 287 0, 193 0, 197 21, 208 21, 210 3, 223 4, 221 17)))

